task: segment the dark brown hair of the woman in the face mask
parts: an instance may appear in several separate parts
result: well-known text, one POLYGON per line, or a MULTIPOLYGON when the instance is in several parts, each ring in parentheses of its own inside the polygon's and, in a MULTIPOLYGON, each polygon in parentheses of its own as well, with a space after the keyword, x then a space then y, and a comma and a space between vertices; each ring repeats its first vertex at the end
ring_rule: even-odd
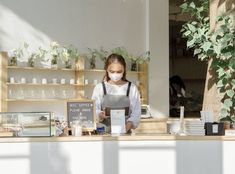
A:
POLYGON ((117 63, 120 63, 120 64, 123 66, 123 68, 124 68, 122 80, 128 81, 128 80, 126 79, 126 61, 125 61, 125 59, 124 59, 121 55, 119 55, 119 54, 110 54, 110 55, 108 56, 108 58, 107 58, 107 60, 105 61, 105 64, 104 64, 104 70, 105 70, 106 72, 105 72, 105 75, 104 75, 103 80, 104 80, 104 81, 109 81, 109 80, 110 80, 109 75, 108 75, 108 67, 109 67, 109 65, 111 65, 112 63, 116 63, 116 62, 117 62, 117 63))

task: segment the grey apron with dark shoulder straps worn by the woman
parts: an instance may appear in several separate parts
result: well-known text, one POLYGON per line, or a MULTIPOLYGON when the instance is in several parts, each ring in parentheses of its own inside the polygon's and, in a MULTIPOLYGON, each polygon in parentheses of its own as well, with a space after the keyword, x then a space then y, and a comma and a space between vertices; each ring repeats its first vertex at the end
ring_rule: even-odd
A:
MULTIPOLYGON (((128 82, 128 88, 126 95, 111 95, 107 94, 105 83, 102 82, 104 97, 101 104, 102 111, 105 111, 106 116, 110 116, 111 109, 122 109, 125 110, 125 119, 127 120, 130 117, 130 87, 131 82, 128 82)), ((106 132, 110 132, 111 128, 111 119, 108 117, 104 119, 101 123, 106 125, 106 132)))

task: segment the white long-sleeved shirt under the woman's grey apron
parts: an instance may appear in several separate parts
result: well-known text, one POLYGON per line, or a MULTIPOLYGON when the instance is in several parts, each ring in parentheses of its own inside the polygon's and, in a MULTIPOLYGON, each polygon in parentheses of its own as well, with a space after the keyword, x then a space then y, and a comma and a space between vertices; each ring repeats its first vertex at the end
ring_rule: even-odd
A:
MULTIPOLYGON (((126 95, 128 83, 118 86, 105 82, 105 87, 107 94, 111 95, 126 95)), ((98 116, 101 112, 101 104, 103 101, 104 90, 102 83, 99 83, 95 86, 92 94, 92 99, 96 101, 96 115, 98 116)), ((131 83, 130 93, 130 117, 127 121, 131 121, 136 128, 139 125, 140 115, 141 115, 141 103, 140 103, 140 94, 136 85, 131 83)))

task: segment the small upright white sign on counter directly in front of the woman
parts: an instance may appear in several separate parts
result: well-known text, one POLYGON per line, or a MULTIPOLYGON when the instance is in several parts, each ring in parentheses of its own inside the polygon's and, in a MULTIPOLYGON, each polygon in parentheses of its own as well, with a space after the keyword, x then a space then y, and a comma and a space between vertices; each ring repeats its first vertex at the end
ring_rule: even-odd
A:
POLYGON ((126 133, 125 110, 111 110, 111 133, 126 133))

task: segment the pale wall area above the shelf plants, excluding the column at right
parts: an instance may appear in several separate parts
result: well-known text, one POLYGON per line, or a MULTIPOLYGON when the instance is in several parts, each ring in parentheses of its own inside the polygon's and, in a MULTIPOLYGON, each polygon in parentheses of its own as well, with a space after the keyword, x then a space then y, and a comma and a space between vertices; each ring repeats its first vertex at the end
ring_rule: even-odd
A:
POLYGON ((87 47, 125 46, 145 51, 144 0, 2 0, 1 50, 19 41, 46 46, 50 40, 87 47))

